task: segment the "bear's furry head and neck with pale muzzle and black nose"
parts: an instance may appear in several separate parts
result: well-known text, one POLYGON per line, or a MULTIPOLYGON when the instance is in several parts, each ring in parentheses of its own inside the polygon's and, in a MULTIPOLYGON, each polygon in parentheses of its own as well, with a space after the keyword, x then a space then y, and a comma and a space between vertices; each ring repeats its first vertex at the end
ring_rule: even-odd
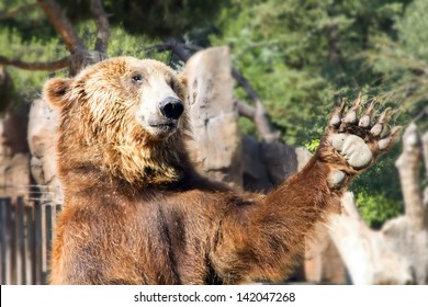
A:
POLYGON ((75 78, 48 80, 44 98, 60 113, 61 177, 89 167, 137 185, 182 175, 185 78, 162 62, 106 59, 75 78))

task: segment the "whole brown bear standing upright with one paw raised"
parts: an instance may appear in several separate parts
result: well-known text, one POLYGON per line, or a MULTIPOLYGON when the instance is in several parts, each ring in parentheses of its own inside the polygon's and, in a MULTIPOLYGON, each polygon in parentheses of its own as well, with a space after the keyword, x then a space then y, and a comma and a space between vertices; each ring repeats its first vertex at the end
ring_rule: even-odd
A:
POLYGON ((194 171, 184 96, 166 65, 131 57, 46 82, 65 195, 52 284, 281 281, 349 181, 398 138, 399 127, 381 137, 386 113, 372 123, 358 99, 336 109, 302 171, 266 195, 241 192, 194 171))

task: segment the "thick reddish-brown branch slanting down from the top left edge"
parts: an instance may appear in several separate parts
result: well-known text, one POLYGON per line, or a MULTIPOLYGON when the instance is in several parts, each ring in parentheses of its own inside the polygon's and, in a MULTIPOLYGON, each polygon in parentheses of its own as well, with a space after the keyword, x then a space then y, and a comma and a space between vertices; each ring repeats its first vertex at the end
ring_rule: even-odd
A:
POLYGON ((37 3, 40 3, 55 31, 63 38, 67 49, 71 54, 77 49, 85 48, 70 21, 55 0, 37 0, 37 3))

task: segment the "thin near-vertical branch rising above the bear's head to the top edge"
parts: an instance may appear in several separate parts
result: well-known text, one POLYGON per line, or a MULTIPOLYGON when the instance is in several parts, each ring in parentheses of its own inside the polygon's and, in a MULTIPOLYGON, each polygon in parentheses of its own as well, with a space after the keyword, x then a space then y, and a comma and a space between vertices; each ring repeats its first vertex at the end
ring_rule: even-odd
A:
POLYGON ((101 0, 90 0, 90 8, 93 18, 97 23, 97 42, 95 42, 95 50, 106 54, 106 49, 109 46, 109 37, 110 37, 110 25, 109 19, 102 7, 101 0))

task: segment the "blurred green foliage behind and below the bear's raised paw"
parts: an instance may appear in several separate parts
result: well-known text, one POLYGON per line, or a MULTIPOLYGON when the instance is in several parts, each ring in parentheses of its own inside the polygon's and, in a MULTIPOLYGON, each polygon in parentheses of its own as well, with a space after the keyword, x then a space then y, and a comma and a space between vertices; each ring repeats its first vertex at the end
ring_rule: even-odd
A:
MULTIPOLYGON (((427 109, 427 1, 230 2, 212 42, 232 47, 234 65, 259 92, 284 141, 314 152, 334 104, 360 91, 376 96, 379 107, 391 106, 395 125, 427 109)), ((402 209, 398 154, 386 155, 352 184, 373 226, 402 209)))

